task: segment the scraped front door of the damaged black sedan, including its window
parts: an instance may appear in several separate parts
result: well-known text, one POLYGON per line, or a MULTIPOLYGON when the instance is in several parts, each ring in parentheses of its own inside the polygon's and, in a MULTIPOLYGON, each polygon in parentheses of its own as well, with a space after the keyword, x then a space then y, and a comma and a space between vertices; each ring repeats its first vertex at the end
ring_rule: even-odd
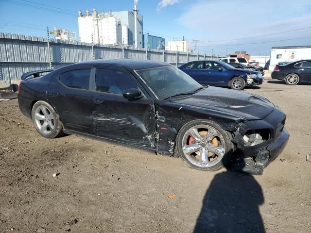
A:
POLYGON ((96 67, 94 132, 98 137, 155 148, 155 107, 138 80, 126 69, 96 67), (124 90, 136 88, 140 98, 128 100, 124 90))

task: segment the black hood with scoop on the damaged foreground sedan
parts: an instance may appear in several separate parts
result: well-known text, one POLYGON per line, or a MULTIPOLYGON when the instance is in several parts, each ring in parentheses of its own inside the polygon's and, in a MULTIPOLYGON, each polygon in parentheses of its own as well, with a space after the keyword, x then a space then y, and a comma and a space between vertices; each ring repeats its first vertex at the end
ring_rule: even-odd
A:
POLYGON ((221 87, 206 89, 172 102, 221 111, 247 120, 259 120, 269 115, 275 105, 259 95, 221 87))

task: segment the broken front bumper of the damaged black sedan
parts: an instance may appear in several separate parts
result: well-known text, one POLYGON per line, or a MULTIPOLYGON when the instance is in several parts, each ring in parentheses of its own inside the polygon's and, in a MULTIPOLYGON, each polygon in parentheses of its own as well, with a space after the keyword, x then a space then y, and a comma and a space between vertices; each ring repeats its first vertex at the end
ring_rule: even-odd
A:
POLYGON ((285 148, 290 137, 284 128, 286 116, 276 109, 262 120, 246 121, 239 125, 234 132, 233 143, 236 145, 231 169, 250 174, 260 175, 285 148), (245 145, 243 136, 250 131, 267 130, 269 139, 257 145, 245 145))

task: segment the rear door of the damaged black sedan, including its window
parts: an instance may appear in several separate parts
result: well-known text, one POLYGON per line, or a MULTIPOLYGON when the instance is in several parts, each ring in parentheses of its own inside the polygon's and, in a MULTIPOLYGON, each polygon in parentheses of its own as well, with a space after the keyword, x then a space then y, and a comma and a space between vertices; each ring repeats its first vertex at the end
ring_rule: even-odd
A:
POLYGON ((60 115, 65 130, 93 134, 92 66, 80 66, 56 74, 47 88, 47 99, 60 115))

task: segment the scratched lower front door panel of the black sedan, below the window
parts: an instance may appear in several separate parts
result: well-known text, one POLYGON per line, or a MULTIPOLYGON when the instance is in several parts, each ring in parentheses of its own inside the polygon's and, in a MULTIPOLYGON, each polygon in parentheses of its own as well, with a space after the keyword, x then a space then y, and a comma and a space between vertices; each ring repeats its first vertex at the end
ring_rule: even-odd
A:
POLYGON ((155 108, 152 100, 124 99, 121 95, 97 93, 104 100, 95 105, 95 135, 121 143, 155 148, 155 108))

